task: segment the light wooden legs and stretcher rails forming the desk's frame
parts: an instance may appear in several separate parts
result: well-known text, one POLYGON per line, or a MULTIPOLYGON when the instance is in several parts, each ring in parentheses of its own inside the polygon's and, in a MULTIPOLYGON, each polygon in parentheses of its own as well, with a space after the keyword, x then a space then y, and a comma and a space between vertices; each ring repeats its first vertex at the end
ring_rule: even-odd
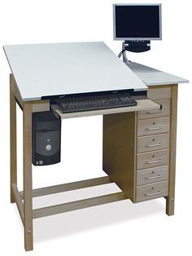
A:
MULTIPOLYGON (((41 105, 41 111, 46 109, 46 102, 23 102, 19 90, 15 85, 14 77, 10 75, 10 123, 11 123, 11 203, 16 203, 20 212, 20 218, 24 224, 24 248, 26 251, 33 249, 33 218, 41 218, 52 214, 82 209, 94 205, 102 205, 114 201, 128 199, 124 192, 112 193, 105 196, 97 196, 81 201, 72 201, 61 205, 51 205, 33 210, 33 197, 45 196, 58 192, 88 188, 101 184, 112 183, 109 176, 103 178, 83 180, 75 183, 67 183, 47 188, 33 190, 32 180, 32 113, 37 105, 41 105), (16 103, 23 109, 23 144, 24 144, 24 191, 17 188, 17 155, 16 155, 16 103), (44 105, 45 104, 45 105, 44 105)), ((175 188, 175 161, 176 161, 176 125, 177 125, 177 85, 172 86, 172 112, 171 112, 171 144, 170 144, 170 170, 169 190, 166 197, 166 213, 174 214, 174 188, 175 188)))

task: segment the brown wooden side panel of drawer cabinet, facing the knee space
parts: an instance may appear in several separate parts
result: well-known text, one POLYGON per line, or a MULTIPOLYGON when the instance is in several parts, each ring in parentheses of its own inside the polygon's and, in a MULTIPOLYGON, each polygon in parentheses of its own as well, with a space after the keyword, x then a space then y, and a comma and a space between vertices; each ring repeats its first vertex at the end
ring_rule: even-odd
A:
POLYGON ((137 114, 103 116, 103 170, 135 201, 137 114))

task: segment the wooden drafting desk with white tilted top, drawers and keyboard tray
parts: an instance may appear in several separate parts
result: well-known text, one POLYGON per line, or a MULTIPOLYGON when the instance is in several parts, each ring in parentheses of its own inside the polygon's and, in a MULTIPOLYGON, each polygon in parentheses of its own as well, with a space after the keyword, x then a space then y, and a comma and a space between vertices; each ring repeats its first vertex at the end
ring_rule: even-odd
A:
POLYGON ((24 224, 26 250, 33 249, 33 218, 114 201, 130 199, 137 203, 158 197, 165 197, 166 213, 174 214, 177 84, 187 80, 141 64, 127 67, 103 42, 4 46, 4 50, 12 71, 11 203, 16 203, 24 224), (95 90, 146 90, 147 86, 148 99, 137 99, 137 106, 81 113, 61 113, 57 105, 42 97, 95 90), (17 188, 16 104, 23 110, 22 192, 17 188), (41 111, 53 111, 62 119, 103 115, 103 170, 107 176, 33 189, 32 113, 41 111), (116 183, 122 192, 33 210, 35 196, 107 183, 116 183))

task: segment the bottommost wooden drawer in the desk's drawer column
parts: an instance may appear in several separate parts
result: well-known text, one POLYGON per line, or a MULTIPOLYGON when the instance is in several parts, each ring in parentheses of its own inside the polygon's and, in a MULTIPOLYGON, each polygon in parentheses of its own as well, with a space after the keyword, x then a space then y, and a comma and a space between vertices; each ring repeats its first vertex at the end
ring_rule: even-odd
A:
POLYGON ((137 202, 168 196, 168 181, 137 187, 137 202))

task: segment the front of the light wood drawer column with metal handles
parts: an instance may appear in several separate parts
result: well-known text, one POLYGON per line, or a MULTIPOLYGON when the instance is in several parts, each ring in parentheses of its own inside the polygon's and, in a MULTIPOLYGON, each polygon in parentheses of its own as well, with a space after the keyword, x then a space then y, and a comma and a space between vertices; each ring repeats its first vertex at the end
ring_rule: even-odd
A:
MULTIPOLYGON (((150 86, 148 98, 161 109, 137 113, 137 184, 135 202, 169 198, 172 86, 150 86)), ((174 146, 173 146, 174 147, 174 146)), ((173 184, 174 187, 174 184, 173 184)))

